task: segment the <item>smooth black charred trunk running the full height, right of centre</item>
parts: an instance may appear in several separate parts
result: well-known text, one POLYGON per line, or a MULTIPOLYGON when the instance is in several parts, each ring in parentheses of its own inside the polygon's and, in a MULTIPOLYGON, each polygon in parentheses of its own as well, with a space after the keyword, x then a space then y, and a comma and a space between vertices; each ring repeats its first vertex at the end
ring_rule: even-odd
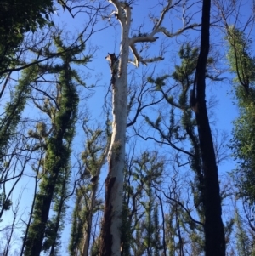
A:
POLYGON ((212 133, 207 115, 205 100, 206 65, 209 52, 211 1, 203 0, 201 51, 196 67, 195 117, 201 147, 201 158, 205 184, 205 251, 207 256, 224 256, 224 225, 221 218, 221 198, 218 184, 218 168, 212 142, 212 133))

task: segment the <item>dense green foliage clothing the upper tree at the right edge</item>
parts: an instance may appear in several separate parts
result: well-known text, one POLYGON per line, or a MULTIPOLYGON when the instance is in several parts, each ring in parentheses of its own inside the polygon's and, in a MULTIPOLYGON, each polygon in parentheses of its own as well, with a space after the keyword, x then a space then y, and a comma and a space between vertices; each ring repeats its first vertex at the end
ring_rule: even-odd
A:
POLYGON ((229 65, 236 77, 233 81, 240 117, 234 122, 230 148, 238 166, 235 171, 239 196, 255 202, 255 59, 252 57, 252 40, 244 32, 229 26, 229 65))

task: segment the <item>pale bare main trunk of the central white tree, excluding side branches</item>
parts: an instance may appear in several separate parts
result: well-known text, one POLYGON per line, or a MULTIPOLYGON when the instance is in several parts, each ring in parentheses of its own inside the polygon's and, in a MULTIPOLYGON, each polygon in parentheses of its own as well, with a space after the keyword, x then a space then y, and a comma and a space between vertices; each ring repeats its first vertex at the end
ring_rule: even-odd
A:
MULTIPOLYGON (((113 2, 113 1, 112 1, 113 2)), ((122 26, 119 58, 109 54, 112 84, 112 136, 107 157, 109 171, 105 181, 105 213, 101 230, 100 256, 121 255, 122 191, 127 128, 127 63, 129 53, 130 8, 116 1, 122 26), (123 14, 123 10, 125 14, 123 14)))

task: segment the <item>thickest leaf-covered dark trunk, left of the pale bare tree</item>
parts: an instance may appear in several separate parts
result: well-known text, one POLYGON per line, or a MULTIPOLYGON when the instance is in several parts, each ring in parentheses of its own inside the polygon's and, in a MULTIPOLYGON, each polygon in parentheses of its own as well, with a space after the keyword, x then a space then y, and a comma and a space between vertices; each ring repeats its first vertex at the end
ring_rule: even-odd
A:
MULTIPOLYGON (((51 115, 54 128, 51 134, 45 137, 47 150, 43 163, 42 180, 39 185, 40 191, 36 196, 35 208, 32 213, 33 220, 26 239, 24 253, 26 256, 40 256, 42 251, 48 251, 53 242, 56 244, 50 234, 56 233, 58 230, 53 230, 53 221, 49 219, 49 213, 54 194, 56 195, 55 190, 59 183, 59 177, 65 168, 68 168, 71 151, 66 141, 71 144, 74 134, 73 123, 77 118, 78 95, 76 84, 72 82, 73 72, 70 66, 71 57, 74 54, 76 52, 67 53, 62 57, 62 71, 59 73, 60 97, 57 100, 58 105, 55 108, 51 107, 51 111, 54 110, 54 115, 51 115)), ((59 69, 58 66, 57 69, 59 69)), ((54 66, 51 67, 51 70, 56 73, 54 66)), ((48 105, 44 105, 44 109, 48 113, 48 105)), ((57 234, 54 235, 57 236, 57 234)))

